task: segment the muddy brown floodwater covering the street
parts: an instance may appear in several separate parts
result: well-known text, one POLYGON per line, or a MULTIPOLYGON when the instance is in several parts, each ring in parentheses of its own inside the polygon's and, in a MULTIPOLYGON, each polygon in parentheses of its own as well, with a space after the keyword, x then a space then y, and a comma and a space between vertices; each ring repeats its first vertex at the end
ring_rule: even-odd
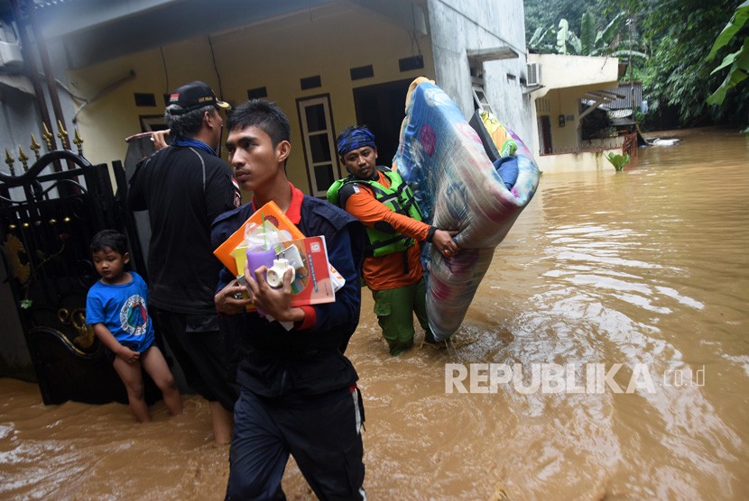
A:
MULTIPOLYGON (((749 139, 661 137, 543 175, 447 347, 389 357, 363 290, 371 499, 749 498, 749 139)), ((221 499, 228 447, 185 409, 135 424, 0 379, 0 498, 221 499)), ((314 497, 292 461, 283 485, 314 497)))

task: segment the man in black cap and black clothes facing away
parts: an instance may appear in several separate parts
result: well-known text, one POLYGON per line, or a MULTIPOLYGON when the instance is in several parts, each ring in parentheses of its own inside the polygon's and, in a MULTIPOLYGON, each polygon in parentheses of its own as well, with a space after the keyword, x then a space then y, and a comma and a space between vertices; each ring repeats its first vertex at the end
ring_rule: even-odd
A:
POLYGON ((229 105, 195 81, 175 90, 166 107, 171 145, 136 168, 130 181, 131 210, 148 209, 151 241, 148 277, 156 332, 166 338, 188 385, 211 410, 214 439, 231 439, 237 391, 230 374, 232 347, 219 329, 213 296, 219 261, 213 256, 210 224, 239 206, 231 170, 217 157, 229 105))

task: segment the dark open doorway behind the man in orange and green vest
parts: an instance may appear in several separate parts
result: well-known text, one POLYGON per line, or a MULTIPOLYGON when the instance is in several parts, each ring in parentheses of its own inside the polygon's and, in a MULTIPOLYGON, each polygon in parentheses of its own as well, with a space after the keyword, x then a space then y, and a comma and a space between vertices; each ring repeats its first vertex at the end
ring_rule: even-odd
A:
POLYGON ((356 123, 366 125, 377 141, 377 163, 391 166, 398 150, 406 93, 411 79, 354 89, 356 123))

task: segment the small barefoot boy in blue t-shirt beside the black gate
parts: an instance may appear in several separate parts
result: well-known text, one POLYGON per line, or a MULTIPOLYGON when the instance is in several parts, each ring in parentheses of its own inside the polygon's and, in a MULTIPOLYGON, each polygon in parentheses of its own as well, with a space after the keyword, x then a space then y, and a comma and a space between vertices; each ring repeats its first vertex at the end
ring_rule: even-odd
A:
POLYGON ((182 414, 180 390, 174 383, 162 351, 153 344, 153 325, 148 316, 148 287, 135 272, 125 271, 130 261, 125 235, 103 230, 94 235, 90 251, 101 279, 88 290, 86 323, 93 326, 105 346, 107 358, 125 383, 127 400, 135 419, 151 421, 143 392, 145 369, 162 390, 171 415, 182 414))

